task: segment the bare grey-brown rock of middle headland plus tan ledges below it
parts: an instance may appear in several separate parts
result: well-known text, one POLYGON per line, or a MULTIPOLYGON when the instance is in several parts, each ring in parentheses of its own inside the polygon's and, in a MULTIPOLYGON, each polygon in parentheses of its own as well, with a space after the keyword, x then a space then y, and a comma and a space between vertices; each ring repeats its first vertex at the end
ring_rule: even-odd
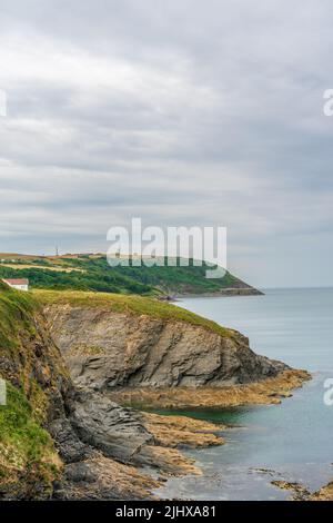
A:
MULTIPOLYGON (((119 312, 105 302, 48 303, 44 315, 80 391, 71 407, 75 433, 109 458, 157 471, 154 486, 170 474, 200 474, 179 447, 223 444, 225 427, 139 408, 276 404, 310 378, 256 355, 231 329, 119 312)), ((147 496, 150 481, 141 482, 147 496)))

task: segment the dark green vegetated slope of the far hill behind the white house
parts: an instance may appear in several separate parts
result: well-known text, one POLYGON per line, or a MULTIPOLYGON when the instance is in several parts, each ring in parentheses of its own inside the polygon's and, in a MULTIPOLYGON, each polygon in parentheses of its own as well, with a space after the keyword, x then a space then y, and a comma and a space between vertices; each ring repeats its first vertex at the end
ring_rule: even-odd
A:
MULTIPOLYGON (((0 255, 0 259, 3 255, 0 255)), ((12 255, 13 257, 16 255, 12 255)), ((117 294, 204 294, 219 293, 225 288, 246 287, 246 284, 226 273, 223 278, 208 279, 208 266, 194 267, 113 267, 104 256, 79 255, 67 258, 14 257, 0 264, 0 277, 27 277, 34 288, 97 290, 117 294), (18 268, 21 264, 21 268, 18 268), (26 265, 26 267, 24 267, 26 265), (33 268, 33 265, 37 267, 33 268), (43 269, 41 267, 44 267, 43 269), (81 269, 70 273, 57 272, 54 267, 81 269), (53 269, 53 270, 52 270, 53 269)))

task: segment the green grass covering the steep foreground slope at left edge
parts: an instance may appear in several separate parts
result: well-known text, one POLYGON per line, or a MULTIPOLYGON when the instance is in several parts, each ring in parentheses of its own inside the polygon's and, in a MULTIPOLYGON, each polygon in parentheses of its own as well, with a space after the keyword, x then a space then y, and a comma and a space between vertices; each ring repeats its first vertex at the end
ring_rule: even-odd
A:
POLYGON ((42 428, 48 398, 30 376, 31 355, 24 343, 36 335, 37 307, 30 295, 0 282, 0 358, 9 363, 0 366, 0 377, 7 381, 7 405, 0 405, 0 491, 14 489, 20 495, 24 484, 28 497, 27 485, 33 496, 36 484, 51 489, 59 465, 53 442, 42 428))

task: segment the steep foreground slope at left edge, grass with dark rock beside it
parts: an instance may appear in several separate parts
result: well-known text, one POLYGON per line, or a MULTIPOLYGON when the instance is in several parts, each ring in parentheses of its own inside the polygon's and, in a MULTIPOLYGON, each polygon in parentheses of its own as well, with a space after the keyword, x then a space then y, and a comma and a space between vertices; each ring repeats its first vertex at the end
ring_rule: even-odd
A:
POLYGON ((62 464, 47 425, 64 420, 71 381, 38 304, 1 283, 0 377, 0 497, 48 497, 62 464))

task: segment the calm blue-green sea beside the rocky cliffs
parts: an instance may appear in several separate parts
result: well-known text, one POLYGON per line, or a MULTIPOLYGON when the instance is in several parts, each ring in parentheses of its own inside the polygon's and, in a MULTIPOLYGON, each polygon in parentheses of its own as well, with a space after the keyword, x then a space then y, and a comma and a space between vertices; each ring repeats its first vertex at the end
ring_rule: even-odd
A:
POLYGON ((256 353, 306 368, 313 379, 281 405, 186 412, 231 424, 228 444, 188 452, 201 477, 170 480, 159 494, 196 500, 283 500, 273 480, 315 491, 333 478, 333 289, 279 289, 265 296, 191 298, 178 305, 249 336, 256 353))

